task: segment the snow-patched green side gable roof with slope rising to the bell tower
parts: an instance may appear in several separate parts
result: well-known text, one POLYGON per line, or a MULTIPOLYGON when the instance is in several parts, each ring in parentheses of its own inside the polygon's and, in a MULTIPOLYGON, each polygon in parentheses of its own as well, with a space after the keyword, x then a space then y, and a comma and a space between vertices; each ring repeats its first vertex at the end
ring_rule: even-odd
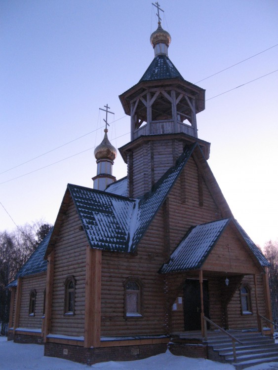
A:
POLYGON ((141 199, 69 184, 68 190, 91 248, 134 252, 196 146, 188 147, 177 165, 141 199))

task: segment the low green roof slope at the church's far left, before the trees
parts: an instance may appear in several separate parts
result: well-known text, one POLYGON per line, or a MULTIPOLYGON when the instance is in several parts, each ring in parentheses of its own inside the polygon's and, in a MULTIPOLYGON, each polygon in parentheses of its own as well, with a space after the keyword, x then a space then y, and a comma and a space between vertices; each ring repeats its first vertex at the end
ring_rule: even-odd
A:
POLYGON ((49 230, 48 234, 40 242, 37 249, 33 252, 31 257, 24 263, 18 271, 16 277, 23 277, 33 274, 38 274, 47 270, 47 261, 44 259, 45 251, 48 246, 53 227, 49 230))

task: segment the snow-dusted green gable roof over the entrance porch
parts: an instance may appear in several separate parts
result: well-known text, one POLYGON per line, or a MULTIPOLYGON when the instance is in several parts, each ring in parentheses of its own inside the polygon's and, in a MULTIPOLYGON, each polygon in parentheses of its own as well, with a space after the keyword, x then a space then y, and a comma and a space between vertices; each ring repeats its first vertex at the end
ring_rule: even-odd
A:
POLYGON ((229 218, 192 227, 171 254, 169 261, 161 266, 159 272, 164 274, 199 269, 230 222, 233 222, 237 226, 239 233, 243 236, 247 246, 260 265, 268 266, 269 262, 267 259, 251 241, 238 222, 229 218))

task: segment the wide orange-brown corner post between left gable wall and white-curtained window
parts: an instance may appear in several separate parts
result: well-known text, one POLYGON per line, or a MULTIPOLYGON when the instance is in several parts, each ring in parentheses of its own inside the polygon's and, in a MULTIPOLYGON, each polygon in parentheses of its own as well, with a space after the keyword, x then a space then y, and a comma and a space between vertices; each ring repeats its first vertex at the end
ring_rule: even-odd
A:
POLYGON ((84 347, 100 347, 102 252, 87 246, 84 347))

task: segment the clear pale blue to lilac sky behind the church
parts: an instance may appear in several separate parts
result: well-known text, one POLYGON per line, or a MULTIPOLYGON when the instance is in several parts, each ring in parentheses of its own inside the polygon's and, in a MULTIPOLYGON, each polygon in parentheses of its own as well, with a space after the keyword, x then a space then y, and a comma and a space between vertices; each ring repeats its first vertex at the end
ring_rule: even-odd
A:
MULTIPOLYGON (((278 1, 159 4, 170 60, 206 90, 198 136, 232 213, 256 244, 276 240, 278 1)), ((111 143, 130 141, 119 95, 154 58, 155 13, 149 0, 0 1, 0 231, 53 224, 68 183, 93 186, 99 108, 115 113, 111 143)), ((113 175, 126 175, 119 151, 113 175)))

